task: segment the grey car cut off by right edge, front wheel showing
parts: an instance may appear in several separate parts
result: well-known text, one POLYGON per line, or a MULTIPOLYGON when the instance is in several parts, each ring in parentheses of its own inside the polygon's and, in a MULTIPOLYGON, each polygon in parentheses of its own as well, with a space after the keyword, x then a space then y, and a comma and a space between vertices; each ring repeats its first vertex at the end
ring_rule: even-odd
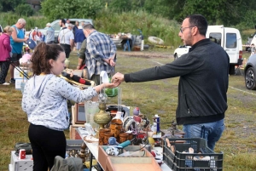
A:
POLYGON ((248 58, 244 74, 247 89, 256 89, 256 54, 248 58))

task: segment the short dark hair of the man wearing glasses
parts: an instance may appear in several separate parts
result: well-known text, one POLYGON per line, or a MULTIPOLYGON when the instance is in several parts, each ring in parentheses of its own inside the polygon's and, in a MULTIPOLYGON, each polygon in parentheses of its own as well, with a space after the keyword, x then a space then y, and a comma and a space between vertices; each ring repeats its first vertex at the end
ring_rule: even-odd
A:
POLYGON ((201 35, 206 36, 208 22, 207 19, 201 14, 191 14, 186 18, 189 19, 190 26, 196 26, 201 35))

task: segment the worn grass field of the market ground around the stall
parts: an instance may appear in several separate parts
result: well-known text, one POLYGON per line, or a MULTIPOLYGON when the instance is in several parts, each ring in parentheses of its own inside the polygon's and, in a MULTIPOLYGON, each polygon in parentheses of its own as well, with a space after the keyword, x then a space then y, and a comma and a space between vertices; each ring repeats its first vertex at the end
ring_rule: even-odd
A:
MULTIPOLYGON (((151 52, 148 52, 150 54, 151 52)), ((159 53, 172 53, 160 50, 159 53)), ((246 57, 248 54, 246 54, 246 57)), ((72 54, 71 68, 78 63, 72 54)), ((173 60, 165 58, 138 58, 118 55, 116 71, 128 73, 144 68, 164 65, 173 60)), ((211 79, 211 78, 209 78, 211 79)), ((7 78, 9 81, 9 77, 7 78)), ((122 83, 122 103, 140 107, 152 121, 155 114, 161 120, 171 122, 177 107, 178 77, 147 83, 122 83)), ((28 142, 26 113, 21 110, 22 94, 14 85, 0 87, 0 170, 8 170, 10 151, 16 142, 28 142)), ((229 109, 226 111, 224 134, 216 145, 216 152, 224 152, 225 171, 255 171, 256 169, 256 91, 245 88, 243 76, 230 76, 228 91, 229 109)), ((108 104, 117 103, 117 97, 109 98, 108 104)), ((170 125, 160 125, 169 128, 170 125)), ((69 139, 68 130, 65 131, 69 139)))

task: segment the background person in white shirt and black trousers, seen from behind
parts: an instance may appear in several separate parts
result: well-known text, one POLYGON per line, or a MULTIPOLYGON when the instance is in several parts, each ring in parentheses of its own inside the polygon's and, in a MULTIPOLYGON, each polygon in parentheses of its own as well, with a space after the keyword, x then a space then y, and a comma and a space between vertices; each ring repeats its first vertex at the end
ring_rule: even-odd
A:
MULTIPOLYGON (((63 24, 63 23, 62 23, 63 24)), ((72 31, 72 24, 69 24, 67 28, 62 28, 60 31, 58 40, 61 44, 61 47, 65 49, 66 58, 69 58, 69 54, 73 48, 73 31, 72 31)))

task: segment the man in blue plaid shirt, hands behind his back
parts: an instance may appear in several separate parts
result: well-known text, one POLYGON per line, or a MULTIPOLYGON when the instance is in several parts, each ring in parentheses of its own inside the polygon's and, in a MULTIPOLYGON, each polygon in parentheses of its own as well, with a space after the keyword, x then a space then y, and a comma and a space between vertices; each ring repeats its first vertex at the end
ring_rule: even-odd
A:
POLYGON ((101 71, 106 71, 111 77, 116 61, 116 46, 106 34, 96 31, 90 23, 83 26, 83 31, 87 40, 85 62, 89 79, 98 85, 101 71))

